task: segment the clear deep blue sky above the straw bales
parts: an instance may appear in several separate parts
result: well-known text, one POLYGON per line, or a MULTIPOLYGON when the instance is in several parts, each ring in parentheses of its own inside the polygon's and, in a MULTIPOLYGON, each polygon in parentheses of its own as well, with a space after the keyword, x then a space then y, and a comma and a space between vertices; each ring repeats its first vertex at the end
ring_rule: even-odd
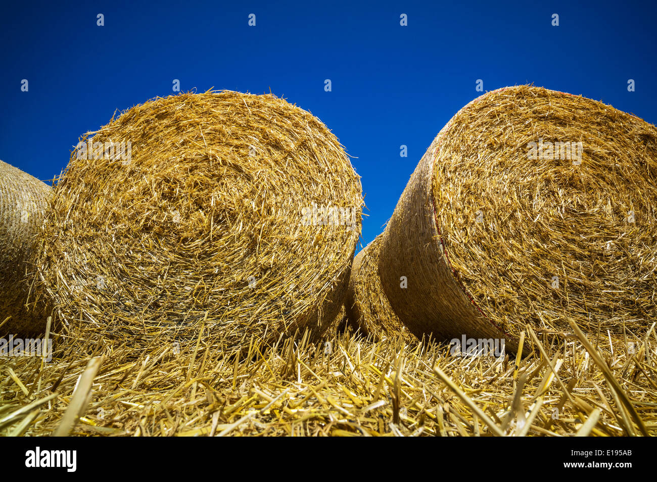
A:
POLYGON ((317 115, 356 157, 366 244, 434 136, 482 93, 477 79, 485 91, 534 83, 657 121, 655 3, 572 3, 5 3, 0 159, 51 179, 81 134, 173 93, 173 79, 181 90, 271 89, 317 115))

